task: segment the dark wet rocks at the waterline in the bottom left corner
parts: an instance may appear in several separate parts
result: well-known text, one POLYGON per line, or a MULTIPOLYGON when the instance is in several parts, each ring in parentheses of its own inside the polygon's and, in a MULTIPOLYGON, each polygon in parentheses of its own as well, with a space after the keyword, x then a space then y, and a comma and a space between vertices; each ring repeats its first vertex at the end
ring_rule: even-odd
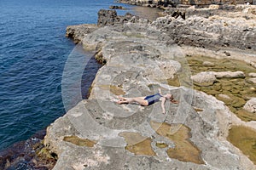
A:
POLYGON ((56 159, 44 147, 45 130, 0 152, 0 169, 52 169, 56 159))

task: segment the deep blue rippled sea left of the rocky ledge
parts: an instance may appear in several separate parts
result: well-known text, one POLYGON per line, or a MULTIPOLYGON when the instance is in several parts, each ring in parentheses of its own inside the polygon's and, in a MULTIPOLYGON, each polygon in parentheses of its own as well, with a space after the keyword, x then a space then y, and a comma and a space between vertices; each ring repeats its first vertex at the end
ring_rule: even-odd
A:
MULTIPOLYGON (((66 27, 96 23, 97 11, 109 5, 113 0, 0 1, 0 150, 28 139, 66 112, 61 79, 75 47, 65 37, 66 27)), ((91 57, 79 47, 75 53, 91 57)), ((90 69, 84 71, 90 77, 90 69)))

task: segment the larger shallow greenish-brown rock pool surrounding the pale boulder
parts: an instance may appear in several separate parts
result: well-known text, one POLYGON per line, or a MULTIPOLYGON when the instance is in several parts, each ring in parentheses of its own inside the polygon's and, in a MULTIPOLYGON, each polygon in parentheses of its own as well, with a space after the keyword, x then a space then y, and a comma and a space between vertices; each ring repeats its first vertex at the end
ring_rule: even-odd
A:
MULTIPOLYGON (((212 59, 204 56, 189 56, 189 68, 192 75, 204 71, 242 71, 245 77, 241 78, 217 78, 212 85, 200 86, 196 83, 191 87, 196 90, 215 96, 223 101, 225 105, 234 112, 242 121, 256 121, 256 114, 243 110, 243 106, 248 99, 256 97, 256 84, 251 82, 250 73, 256 72, 256 69, 247 63, 236 59, 212 59)), ((172 86, 179 86, 179 75, 174 80, 168 81, 172 86)))

